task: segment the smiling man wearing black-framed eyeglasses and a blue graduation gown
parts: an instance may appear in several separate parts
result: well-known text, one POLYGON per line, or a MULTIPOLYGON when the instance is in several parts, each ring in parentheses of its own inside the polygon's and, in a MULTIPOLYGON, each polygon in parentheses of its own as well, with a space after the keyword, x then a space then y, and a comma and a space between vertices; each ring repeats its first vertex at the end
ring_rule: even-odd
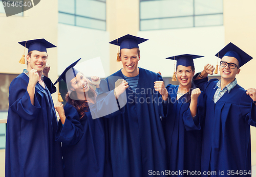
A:
POLYGON ((231 42, 216 56, 222 58, 220 81, 208 81, 207 75, 215 69, 210 64, 194 77, 207 96, 202 176, 251 176, 250 125, 256 125, 256 90, 243 89, 236 75, 252 57, 231 42))

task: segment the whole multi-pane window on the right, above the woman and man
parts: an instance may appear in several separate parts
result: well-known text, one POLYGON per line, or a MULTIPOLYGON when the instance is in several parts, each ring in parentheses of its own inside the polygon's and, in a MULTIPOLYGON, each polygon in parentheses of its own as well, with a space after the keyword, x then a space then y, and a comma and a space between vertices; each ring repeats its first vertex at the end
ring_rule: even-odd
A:
POLYGON ((223 25, 223 0, 140 0, 140 30, 223 25))

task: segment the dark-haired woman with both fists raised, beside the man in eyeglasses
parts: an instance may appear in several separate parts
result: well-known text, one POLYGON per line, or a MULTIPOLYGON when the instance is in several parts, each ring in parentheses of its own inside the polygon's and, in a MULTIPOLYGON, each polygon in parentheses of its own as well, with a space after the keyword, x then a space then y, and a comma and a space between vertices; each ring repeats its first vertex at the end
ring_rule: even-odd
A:
POLYGON ((162 125, 167 151, 167 167, 172 176, 200 176, 202 132, 204 120, 204 93, 192 82, 195 74, 193 59, 202 56, 180 55, 176 74, 179 85, 155 82, 162 95, 162 125), (181 171, 181 173, 180 173, 181 171))

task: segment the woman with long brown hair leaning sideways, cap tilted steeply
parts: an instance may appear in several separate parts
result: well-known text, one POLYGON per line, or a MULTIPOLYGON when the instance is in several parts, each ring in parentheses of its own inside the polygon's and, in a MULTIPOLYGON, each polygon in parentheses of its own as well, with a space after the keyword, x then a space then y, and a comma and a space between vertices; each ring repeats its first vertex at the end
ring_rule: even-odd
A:
POLYGON ((98 88, 100 79, 91 77, 89 81, 73 67, 69 66, 57 80, 63 79, 68 86, 65 107, 59 102, 55 105, 60 117, 56 140, 62 142, 64 175, 111 176, 103 120, 92 116, 96 114, 97 95, 92 85, 98 88))

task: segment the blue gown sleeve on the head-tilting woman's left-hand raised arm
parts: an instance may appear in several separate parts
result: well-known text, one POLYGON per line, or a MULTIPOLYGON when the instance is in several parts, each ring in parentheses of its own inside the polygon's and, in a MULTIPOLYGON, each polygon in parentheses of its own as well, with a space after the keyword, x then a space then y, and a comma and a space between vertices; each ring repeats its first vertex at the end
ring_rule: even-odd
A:
POLYGON ((70 104, 66 104, 64 110, 66 120, 64 125, 62 125, 61 120, 58 122, 56 141, 60 141, 65 145, 74 145, 81 139, 83 135, 83 127, 80 122, 80 116, 75 107, 70 104))

